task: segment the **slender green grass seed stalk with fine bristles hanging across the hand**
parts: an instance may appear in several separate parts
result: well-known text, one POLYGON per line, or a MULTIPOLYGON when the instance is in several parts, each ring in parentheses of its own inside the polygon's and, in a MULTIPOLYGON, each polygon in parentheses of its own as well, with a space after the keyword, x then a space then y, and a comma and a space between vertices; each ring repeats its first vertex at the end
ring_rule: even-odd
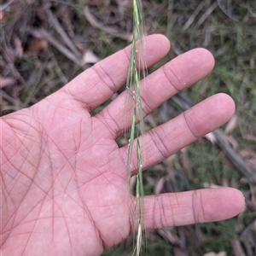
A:
POLYGON ((127 179, 130 184, 131 159, 133 149, 137 151, 137 178, 134 209, 131 212, 131 223, 133 228, 137 227, 137 239, 133 255, 139 256, 144 246, 143 229, 143 154, 141 143, 143 143, 144 123, 143 108, 140 92, 140 79, 146 76, 146 64, 143 52, 143 5, 142 0, 133 0, 133 40, 131 44, 131 59, 126 82, 126 104, 131 108, 131 131, 129 139, 129 150, 127 160, 127 179), (137 43, 136 43, 137 42, 137 43), (141 75, 142 74, 142 75, 141 75), (129 103, 127 103, 129 102, 129 103), (135 140, 137 138, 137 140, 135 140))

